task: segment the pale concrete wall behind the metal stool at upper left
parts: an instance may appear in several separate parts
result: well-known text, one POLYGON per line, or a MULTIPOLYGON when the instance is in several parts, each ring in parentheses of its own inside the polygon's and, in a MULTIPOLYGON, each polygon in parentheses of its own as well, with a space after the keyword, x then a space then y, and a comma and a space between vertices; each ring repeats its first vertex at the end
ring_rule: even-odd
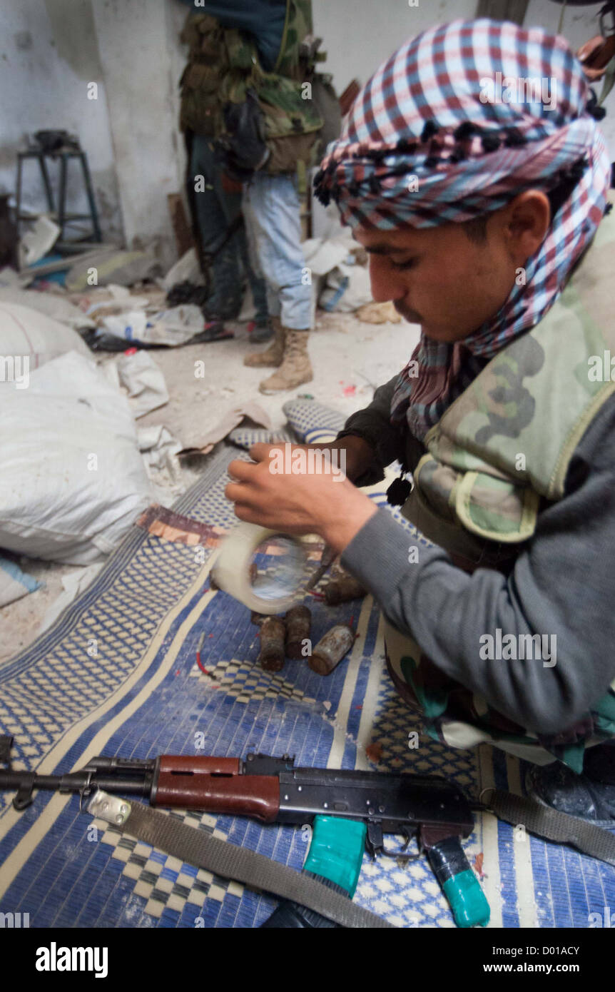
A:
MULTIPOLYGON (((183 186, 177 0, 20 0, 0 12, 0 190, 15 189, 17 151, 43 128, 78 134, 87 152, 104 236, 157 239, 176 257, 167 194, 183 186), (88 83, 96 82, 96 99, 88 83)), ((28 162, 25 205, 43 209, 38 165, 28 162)), ((52 170, 52 173, 54 170, 52 170)), ((85 211, 78 174, 69 209, 85 211)))

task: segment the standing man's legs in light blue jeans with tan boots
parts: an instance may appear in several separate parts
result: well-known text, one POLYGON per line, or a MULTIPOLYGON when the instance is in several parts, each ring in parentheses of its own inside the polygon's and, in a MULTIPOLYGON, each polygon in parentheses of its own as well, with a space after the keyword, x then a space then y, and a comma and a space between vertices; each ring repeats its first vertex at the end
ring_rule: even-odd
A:
POLYGON ((244 192, 244 215, 258 267, 267 283, 276 341, 245 364, 279 366, 263 393, 294 389, 312 378, 308 358, 311 286, 301 245, 301 206, 295 176, 257 173, 244 192))

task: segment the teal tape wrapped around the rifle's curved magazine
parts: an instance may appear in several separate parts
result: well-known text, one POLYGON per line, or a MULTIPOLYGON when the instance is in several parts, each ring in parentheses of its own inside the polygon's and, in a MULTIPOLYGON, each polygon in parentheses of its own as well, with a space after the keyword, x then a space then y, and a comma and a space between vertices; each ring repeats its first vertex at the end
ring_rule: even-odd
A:
POLYGON ((360 820, 316 816, 304 871, 341 886, 354 896, 365 851, 367 826, 360 820))

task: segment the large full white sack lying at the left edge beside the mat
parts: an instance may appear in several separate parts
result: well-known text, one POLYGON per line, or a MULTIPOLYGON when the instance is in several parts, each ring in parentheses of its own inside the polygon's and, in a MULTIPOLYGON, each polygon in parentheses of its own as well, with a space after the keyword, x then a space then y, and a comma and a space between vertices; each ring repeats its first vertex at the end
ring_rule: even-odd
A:
POLYGON ((69 352, 0 392, 0 547, 90 564, 151 502, 128 401, 69 352))

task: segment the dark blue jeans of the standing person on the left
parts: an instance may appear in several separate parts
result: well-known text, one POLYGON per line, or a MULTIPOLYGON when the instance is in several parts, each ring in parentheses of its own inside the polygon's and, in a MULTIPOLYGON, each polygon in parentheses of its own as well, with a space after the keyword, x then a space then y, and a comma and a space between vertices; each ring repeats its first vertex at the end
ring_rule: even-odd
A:
POLYGON ((211 296, 206 310, 227 319, 239 313, 243 298, 243 267, 252 290, 256 322, 266 323, 267 290, 265 282, 256 275, 250 264, 245 227, 242 225, 222 250, 216 251, 229 225, 242 209, 242 194, 224 189, 222 172, 215 161, 210 139, 199 134, 192 137, 188 182, 193 184, 194 176, 202 176, 205 186, 202 191, 193 193, 200 241, 204 251, 216 253, 211 266, 211 296))

